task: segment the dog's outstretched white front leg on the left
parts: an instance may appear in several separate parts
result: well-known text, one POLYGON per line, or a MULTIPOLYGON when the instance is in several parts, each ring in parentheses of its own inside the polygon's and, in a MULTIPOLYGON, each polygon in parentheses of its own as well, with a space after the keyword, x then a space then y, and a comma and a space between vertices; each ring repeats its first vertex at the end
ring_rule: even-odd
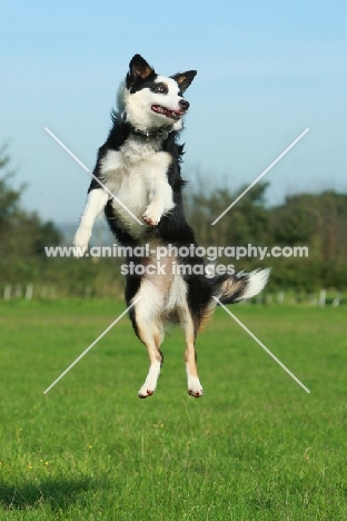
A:
POLYGON ((109 195, 102 188, 95 188, 88 194, 87 205, 73 238, 76 257, 82 257, 85 255, 95 220, 105 208, 108 198, 109 195))

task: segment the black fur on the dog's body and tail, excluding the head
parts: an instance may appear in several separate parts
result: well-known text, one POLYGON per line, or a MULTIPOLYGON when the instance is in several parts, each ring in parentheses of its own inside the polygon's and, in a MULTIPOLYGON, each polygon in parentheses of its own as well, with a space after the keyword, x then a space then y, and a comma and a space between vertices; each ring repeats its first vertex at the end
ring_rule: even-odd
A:
MULTIPOLYGON (((113 126, 109 132, 108 139, 99 149, 98 161, 93 171, 96 177, 100 177, 100 161, 107 151, 109 149, 119 150, 130 134, 130 126, 128 122, 122 121, 115 115, 112 121, 113 126)), ((112 234, 122 246, 131 246, 135 248, 136 246, 143 244, 143 240, 150 242, 151 239, 160 239, 163 244, 171 244, 178 248, 181 246, 189 247, 192 244, 197 246, 195 234, 185 217, 182 188, 186 181, 181 177, 180 168, 184 155, 184 145, 179 145, 177 142, 178 136, 179 132, 172 131, 169 134, 168 138, 162 141, 162 150, 169 153, 172 157, 172 163, 168 169, 168 183, 172 188, 175 208, 169 214, 165 215, 157 226, 148 228, 146 237, 145 239, 142 238, 141 243, 123 229, 122 224, 118 220, 117 214, 113 212, 111 201, 108 201, 105 208, 105 215, 112 234)), ((96 188, 100 188, 100 185, 93 179, 90 184, 89 191, 96 188)), ((141 259, 139 257, 128 255, 127 263, 130 264, 131 262, 133 264, 140 264, 141 259)), ((230 275, 226 274, 207 278, 204 274, 205 263, 201 257, 198 256, 187 256, 181 258, 180 262, 181 264, 195 266, 197 272, 200 273, 198 275, 184 275, 188 286, 187 299, 197 332, 204 320, 206 309, 211 302, 212 295, 221 293, 220 288, 222 283, 230 278, 230 275)), ((128 306, 137 294, 140 283, 140 275, 127 275, 125 296, 128 306)), ((237 293, 232 294, 229 298, 227 296, 221 296, 221 302, 236 302, 241 297, 241 293, 246 284, 247 275, 244 276, 244 284, 239 286, 237 293)), ((132 309, 130 311, 130 318, 137 333, 137 325, 132 309)))

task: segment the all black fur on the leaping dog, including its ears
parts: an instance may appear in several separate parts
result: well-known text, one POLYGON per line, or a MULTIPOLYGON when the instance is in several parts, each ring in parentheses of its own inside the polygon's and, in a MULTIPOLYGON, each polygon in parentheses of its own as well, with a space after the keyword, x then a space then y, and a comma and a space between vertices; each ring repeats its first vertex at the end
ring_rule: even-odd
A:
MULTIPOLYGON (((179 85, 180 96, 181 92, 188 88, 195 76, 196 71, 191 70, 185 73, 177 73, 171 77, 179 85)), ((140 55, 136 55, 130 61, 126 85, 130 92, 136 92, 146 87, 155 88, 153 86, 158 87, 158 85, 161 85, 153 83, 156 77, 157 73, 155 72, 153 68, 150 67, 140 55)), ((109 150, 119 150, 129 138, 131 130, 133 129, 131 124, 127 121, 126 118, 122 118, 118 112, 112 111, 111 117, 113 125, 106 142, 99 149, 97 165, 93 170, 93 175, 97 178, 100 178, 100 164, 102 158, 109 150)), ((136 237, 132 237, 129 232, 125 229, 122 223, 119 222, 117 213, 112 208, 111 201, 109 200, 106 205, 105 215, 108 225, 118 243, 122 246, 131 246, 135 248, 136 246, 140 246, 156 239, 159 239, 159 242, 165 245, 170 244, 172 246, 177 246, 178 248, 181 246, 189 247, 190 245, 197 246, 195 234, 185 217, 182 188, 186 181, 181 177, 180 168, 184 155, 184 145, 178 144, 178 131, 170 131, 168 137, 162 139, 161 142, 161 150, 168 153, 172 158, 170 167, 167 171, 167 178, 169 185, 172 188, 175 207, 167 215, 161 217, 157 226, 148 227, 146 235, 141 237, 141 242, 139 242, 136 237)), ((100 185, 97 183, 97 180, 92 179, 89 191, 99 188, 100 185)), ((229 304, 237 302, 241 298, 242 292, 247 287, 248 275, 244 274, 230 277, 230 275, 226 274, 208 278, 205 275, 205 263, 201 257, 188 256, 179 260, 181 264, 195 266, 198 272, 196 275, 191 273, 184 275, 188 287, 187 301, 191 316, 194 318, 195 330, 197 332, 201 322, 204 321, 212 296, 219 295, 219 298, 222 303, 229 304), (227 285, 228 281, 230 279, 235 281, 235 289, 230 292, 229 284, 229 288, 224 291, 224 285, 227 285)), ((141 259, 128 255, 127 263, 129 264, 131 262, 135 264, 140 264, 141 259)), ((125 292, 127 305, 130 305, 131 299, 135 297, 140 287, 140 275, 127 275, 127 285, 125 292)), ((133 309, 130 312, 130 317, 132 320, 135 331, 137 332, 133 309)))

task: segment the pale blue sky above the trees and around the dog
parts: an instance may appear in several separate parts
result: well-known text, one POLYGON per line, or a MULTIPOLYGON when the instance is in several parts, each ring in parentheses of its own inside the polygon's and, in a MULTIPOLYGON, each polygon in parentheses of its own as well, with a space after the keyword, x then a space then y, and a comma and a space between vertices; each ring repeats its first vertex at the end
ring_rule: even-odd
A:
POLYGON ((90 169, 129 60, 158 72, 197 69, 181 136, 184 176, 231 189, 251 183, 307 127, 265 179, 268 203, 347 191, 347 6, 344 1, 2 2, 0 141, 23 204, 77 222, 90 169))

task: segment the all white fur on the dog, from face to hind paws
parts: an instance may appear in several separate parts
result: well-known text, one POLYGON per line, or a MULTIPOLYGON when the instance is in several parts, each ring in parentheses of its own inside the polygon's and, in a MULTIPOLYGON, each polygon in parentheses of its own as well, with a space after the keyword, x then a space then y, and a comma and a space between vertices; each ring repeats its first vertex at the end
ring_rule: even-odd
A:
MULTIPOLYGON (((105 187, 125 205, 138 220, 111 197, 102 188, 93 189, 89 196, 86 209, 81 217, 80 226, 76 233, 73 245, 85 252, 88 247, 92 226, 97 215, 105 208, 108 200, 115 210, 115 218, 123 230, 133 238, 143 238, 148 226, 156 226, 174 207, 172 189, 168 183, 168 170, 171 164, 170 154, 161 150, 163 135, 152 137, 153 130, 179 130, 181 117, 176 120, 175 115, 158 114, 153 106, 161 106, 176 115, 185 111, 180 106, 182 96, 179 86, 172 78, 158 76, 155 80, 167 86, 166 92, 155 92, 146 87, 136 92, 130 92, 122 82, 117 97, 117 117, 131 124, 135 130, 119 150, 108 149, 100 161, 100 180, 105 187), (170 116, 172 116, 170 118, 170 116), (150 139, 139 136, 139 132, 150 132, 150 139), (142 219, 142 220, 141 220, 142 219)), ((184 106, 184 104, 181 104, 184 106)), ((186 108, 188 105, 186 105, 186 108)), ((155 107, 156 109, 156 107, 155 107)), ((158 110, 158 108, 157 108, 158 110)), ((165 111, 163 111, 165 112, 165 111)), ((155 132, 155 135, 158 132, 155 132)), ((156 252, 160 244, 150 244, 150 250, 156 252)), ((77 248, 76 248, 77 250, 77 248)), ((148 264, 157 264, 157 256, 141 259, 146 267, 148 264)), ((160 345, 165 335, 165 324, 179 318, 185 331, 186 338, 186 371, 188 392, 195 397, 202 395, 202 386, 198 377, 195 338, 196 331, 191 312, 187 302, 187 284, 181 275, 177 275, 172 267, 177 263, 174 255, 160 258, 161 269, 146 272, 141 277, 140 286, 133 298, 141 297, 135 305, 137 333, 146 345, 149 355, 149 371, 138 395, 147 397, 153 394, 157 387, 162 356, 160 345)), ((160 268, 159 266, 159 268, 160 268)), ((250 298, 259 293, 269 276, 269 271, 252 272, 248 276, 248 285, 242 298, 250 298)), ((216 306, 212 299, 210 307, 216 306)))

